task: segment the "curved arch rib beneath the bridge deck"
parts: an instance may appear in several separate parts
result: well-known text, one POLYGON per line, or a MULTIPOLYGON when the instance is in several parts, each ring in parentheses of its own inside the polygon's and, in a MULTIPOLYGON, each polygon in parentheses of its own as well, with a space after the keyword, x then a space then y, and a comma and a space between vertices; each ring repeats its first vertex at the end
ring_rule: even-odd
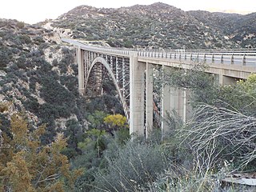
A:
POLYGON ((118 97, 121 100, 122 108, 123 108, 123 110, 126 114, 127 121, 129 122, 129 119, 130 119, 129 107, 128 107, 126 101, 125 101, 125 98, 122 97, 121 89, 118 86, 118 82, 115 78, 113 70, 111 70, 111 68, 110 68, 110 64, 108 62, 106 62, 106 60, 104 58, 97 57, 97 58, 94 58, 93 62, 91 62, 90 69, 88 70, 87 78, 86 78, 86 82, 85 82, 85 93, 86 93, 86 90, 88 88, 88 84, 89 84, 89 81, 90 81, 90 75, 93 73, 94 67, 98 64, 101 64, 102 66, 104 66, 107 73, 110 74, 110 77, 111 77, 112 81, 114 82, 114 86, 115 86, 116 90, 118 91, 118 97))

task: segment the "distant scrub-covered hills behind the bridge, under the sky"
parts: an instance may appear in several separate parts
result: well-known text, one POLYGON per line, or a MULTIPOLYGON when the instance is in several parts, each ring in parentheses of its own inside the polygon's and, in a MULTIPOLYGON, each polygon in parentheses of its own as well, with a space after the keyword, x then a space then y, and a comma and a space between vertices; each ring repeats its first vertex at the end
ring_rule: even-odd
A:
POLYGON ((158 2, 118 9, 78 6, 50 25, 69 29, 70 38, 110 46, 240 48, 255 46, 255 19, 255 14, 186 12, 158 2))

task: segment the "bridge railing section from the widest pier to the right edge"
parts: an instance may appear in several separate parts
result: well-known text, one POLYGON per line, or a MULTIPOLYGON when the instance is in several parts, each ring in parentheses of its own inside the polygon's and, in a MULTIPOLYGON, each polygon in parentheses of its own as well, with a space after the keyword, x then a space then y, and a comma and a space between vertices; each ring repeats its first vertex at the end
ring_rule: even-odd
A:
POLYGON ((256 66, 256 50, 172 50, 168 51, 146 51, 139 50, 138 56, 147 58, 168 58, 177 62, 202 62, 205 64, 226 64, 238 66, 256 66))

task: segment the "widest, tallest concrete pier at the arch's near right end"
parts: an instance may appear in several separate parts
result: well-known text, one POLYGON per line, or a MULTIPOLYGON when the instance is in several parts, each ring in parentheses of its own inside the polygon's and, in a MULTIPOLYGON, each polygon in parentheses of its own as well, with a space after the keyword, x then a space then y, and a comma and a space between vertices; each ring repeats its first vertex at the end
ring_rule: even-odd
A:
POLYGON ((144 135, 144 72, 138 52, 130 51, 130 134, 144 135))

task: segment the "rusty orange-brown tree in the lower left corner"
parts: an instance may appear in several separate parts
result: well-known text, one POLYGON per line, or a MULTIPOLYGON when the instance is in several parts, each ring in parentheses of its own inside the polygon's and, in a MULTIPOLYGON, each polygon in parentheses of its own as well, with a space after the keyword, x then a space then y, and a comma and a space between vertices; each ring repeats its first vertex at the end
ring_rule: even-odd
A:
POLYGON ((58 134, 54 142, 42 146, 40 136, 46 126, 34 131, 21 114, 11 116, 11 135, 3 134, 0 154, 1 191, 64 191, 72 189, 82 170, 70 171, 70 164, 61 151, 66 139, 58 134), (66 181, 68 184, 64 183, 66 181))

